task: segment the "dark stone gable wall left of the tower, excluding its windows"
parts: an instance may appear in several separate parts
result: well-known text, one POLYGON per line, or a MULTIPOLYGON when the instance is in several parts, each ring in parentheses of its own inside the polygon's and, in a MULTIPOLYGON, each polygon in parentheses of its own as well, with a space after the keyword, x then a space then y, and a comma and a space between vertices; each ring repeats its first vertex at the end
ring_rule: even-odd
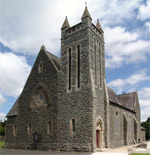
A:
MULTIPOLYGON (((17 135, 12 138, 12 126, 7 127, 8 147, 12 147, 10 139, 14 139, 17 148, 31 149, 34 145, 33 133, 35 131, 40 133, 40 140, 38 142, 39 149, 48 149, 57 143, 57 72, 47 57, 45 51, 41 50, 37 60, 32 68, 31 74, 26 82, 24 90, 21 94, 18 107, 18 116, 15 120, 17 126, 17 135), (43 63, 43 72, 38 72, 39 63, 43 63), (34 90, 38 85, 43 85, 48 92, 48 103, 44 106, 37 106, 31 108, 32 96, 34 90), (47 134, 47 125, 51 121, 52 133, 47 134), (31 124, 32 133, 28 134, 28 124, 31 124)), ((11 125, 12 118, 8 118, 8 126, 11 125)), ((13 122, 12 122, 13 123, 13 122)))

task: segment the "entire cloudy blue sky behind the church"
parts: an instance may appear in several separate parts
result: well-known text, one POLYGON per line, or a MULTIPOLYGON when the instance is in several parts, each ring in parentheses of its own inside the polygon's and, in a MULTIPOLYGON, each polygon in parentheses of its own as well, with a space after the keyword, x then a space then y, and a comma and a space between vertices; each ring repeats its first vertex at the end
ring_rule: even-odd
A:
MULTIPOLYGON (((150 117, 150 0, 87 0, 105 36, 106 81, 117 94, 138 91, 150 117)), ((41 45, 60 56, 61 26, 81 21, 85 0, 0 0, 0 120, 21 93, 41 45)))

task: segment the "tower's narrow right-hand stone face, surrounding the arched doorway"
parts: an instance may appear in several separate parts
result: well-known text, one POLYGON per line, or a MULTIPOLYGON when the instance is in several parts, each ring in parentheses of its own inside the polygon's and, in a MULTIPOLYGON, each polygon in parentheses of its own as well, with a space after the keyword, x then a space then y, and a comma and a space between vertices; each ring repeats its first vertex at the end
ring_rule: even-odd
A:
MULTIPOLYGON (((105 109, 104 109, 104 78, 105 78, 105 59, 104 59, 104 40, 103 33, 92 24, 89 30, 89 69, 92 82, 93 96, 93 147, 96 146, 96 127, 97 121, 101 118, 102 126, 105 128, 105 109), (99 47, 100 45, 100 47, 99 47), (95 55, 96 54, 96 55, 95 55), (96 69, 95 69, 96 67, 96 69), (96 77, 95 77, 96 76, 96 77)), ((105 147, 105 129, 103 129, 103 147, 105 147)))

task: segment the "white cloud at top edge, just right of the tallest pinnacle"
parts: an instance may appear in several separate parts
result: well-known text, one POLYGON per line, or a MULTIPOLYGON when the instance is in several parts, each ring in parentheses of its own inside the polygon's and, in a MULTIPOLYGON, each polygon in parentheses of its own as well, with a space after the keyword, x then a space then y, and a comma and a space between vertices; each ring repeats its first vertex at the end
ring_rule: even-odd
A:
POLYGON ((141 2, 142 0, 91 0, 88 6, 92 6, 94 20, 99 16, 102 25, 116 25, 136 18, 135 10, 140 7, 141 2))

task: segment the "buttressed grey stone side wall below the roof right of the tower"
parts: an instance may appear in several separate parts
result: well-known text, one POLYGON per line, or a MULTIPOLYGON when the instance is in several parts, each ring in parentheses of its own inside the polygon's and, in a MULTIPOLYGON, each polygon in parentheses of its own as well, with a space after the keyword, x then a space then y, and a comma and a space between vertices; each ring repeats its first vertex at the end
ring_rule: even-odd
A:
MULTIPOLYGON (((135 139, 135 112, 129 111, 125 108, 122 108, 114 103, 110 103, 110 147, 119 147, 122 145, 126 145, 124 141, 124 132, 125 132, 125 126, 124 126, 124 114, 127 117, 127 144, 133 144, 135 139), (118 111, 119 115, 119 132, 115 133, 115 113, 118 111), (131 123, 129 123, 129 119, 131 117, 131 123), (129 127, 130 126, 130 127, 129 127), (130 131, 129 131, 130 130, 130 131)), ((138 122, 140 124, 140 122, 138 122)), ((138 128, 138 127, 137 127, 138 128)), ((138 136, 137 132, 137 140, 140 137, 138 136)), ((137 141, 136 140, 136 141, 137 141)))

